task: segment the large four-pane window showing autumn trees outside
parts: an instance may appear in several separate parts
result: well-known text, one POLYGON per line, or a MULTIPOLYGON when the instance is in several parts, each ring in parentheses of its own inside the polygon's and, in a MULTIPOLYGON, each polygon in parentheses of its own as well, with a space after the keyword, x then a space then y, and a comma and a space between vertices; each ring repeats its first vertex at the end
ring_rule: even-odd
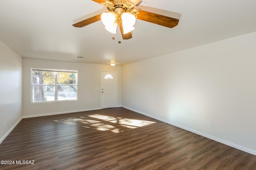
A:
POLYGON ((77 100, 77 70, 31 71, 32 102, 77 100))

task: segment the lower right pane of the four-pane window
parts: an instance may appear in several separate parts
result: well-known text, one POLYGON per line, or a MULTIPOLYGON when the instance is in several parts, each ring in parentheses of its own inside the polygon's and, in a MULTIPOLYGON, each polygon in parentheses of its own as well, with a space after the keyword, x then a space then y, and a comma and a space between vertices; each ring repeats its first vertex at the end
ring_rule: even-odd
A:
POLYGON ((58 86, 58 100, 76 100, 76 86, 58 86))

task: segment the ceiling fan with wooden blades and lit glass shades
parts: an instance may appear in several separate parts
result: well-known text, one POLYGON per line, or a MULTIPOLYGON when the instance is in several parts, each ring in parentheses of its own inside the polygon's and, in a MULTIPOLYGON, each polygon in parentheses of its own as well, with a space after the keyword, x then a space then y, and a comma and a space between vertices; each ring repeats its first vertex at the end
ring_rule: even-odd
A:
POLYGON ((132 38, 131 31, 134 29, 133 25, 136 18, 139 20, 148 21, 165 27, 175 27, 179 20, 152 12, 137 9, 142 0, 92 0, 105 6, 109 12, 98 14, 86 20, 73 24, 74 27, 84 27, 96 21, 102 20, 105 28, 111 32, 116 33, 117 25, 120 28, 123 39, 132 38))

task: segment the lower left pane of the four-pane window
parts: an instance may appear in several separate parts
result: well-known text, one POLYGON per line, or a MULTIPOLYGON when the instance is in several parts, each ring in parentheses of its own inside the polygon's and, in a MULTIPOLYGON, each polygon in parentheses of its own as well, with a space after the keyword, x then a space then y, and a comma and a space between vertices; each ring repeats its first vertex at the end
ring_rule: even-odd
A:
POLYGON ((33 102, 44 102, 54 101, 54 86, 32 86, 32 101, 33 102))

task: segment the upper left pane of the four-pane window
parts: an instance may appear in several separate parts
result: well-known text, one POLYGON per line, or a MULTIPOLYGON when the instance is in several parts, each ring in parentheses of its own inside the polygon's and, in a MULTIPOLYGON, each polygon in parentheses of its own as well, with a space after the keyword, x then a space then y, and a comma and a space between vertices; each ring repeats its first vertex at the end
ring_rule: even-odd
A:
POLYGON ((32 71, 32 84, 54 84, 55 73, 47 71, 32 71))

